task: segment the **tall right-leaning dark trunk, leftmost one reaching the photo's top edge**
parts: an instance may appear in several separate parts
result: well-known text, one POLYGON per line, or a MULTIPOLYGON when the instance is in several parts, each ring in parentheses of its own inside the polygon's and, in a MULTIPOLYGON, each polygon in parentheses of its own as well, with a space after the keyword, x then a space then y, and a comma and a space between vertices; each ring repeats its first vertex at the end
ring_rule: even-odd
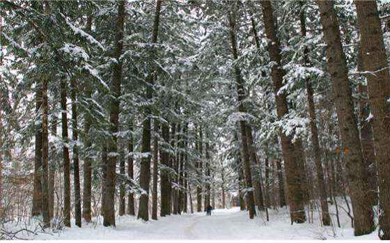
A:
POLYGON ((113 68, 113 77, 111 84, 111 101, 109 115, 109 132, 111 139, 108 145, 108 161, 106 169, 106 181, 104 192, 104 226, 115 226, 115 182, 116 182, 116 151, 118 121, 119 121, 119 97, 120 97, 120 81, 122 76, 122 62, 120 55, 123 49, 123 22, 125 20, 125 1, 118 3, 118 19, 116 22, 116 38, 114 48, 114 58, 116 63, 113 68))

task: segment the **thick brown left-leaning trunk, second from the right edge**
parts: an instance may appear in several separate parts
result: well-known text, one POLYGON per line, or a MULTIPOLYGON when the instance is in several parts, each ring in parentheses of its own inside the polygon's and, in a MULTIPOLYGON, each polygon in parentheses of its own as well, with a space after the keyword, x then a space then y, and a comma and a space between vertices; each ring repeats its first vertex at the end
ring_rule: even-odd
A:
POLYGON ((375 226, 373 212, 369 207, 366 195, 367 173, 361 152, 357 118, 354 115, 347 63, 341 45, 341 33, 336 20, 334 2, 318 1, 318 7, 320 8, 324 39, 327 44, 327 60, 336 102, 338 127, 344 147, 347 177, 350 181, 350 197, 354 212, 354 235, 365 235, 371 233, 375 226))

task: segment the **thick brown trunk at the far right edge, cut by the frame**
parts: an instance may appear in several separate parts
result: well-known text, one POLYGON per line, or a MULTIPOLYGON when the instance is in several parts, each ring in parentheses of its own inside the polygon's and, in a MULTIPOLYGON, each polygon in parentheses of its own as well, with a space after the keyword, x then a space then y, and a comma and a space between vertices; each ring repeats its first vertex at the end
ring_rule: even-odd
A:
MULTIPOLYGON (((361 34, 363 72, 367 74, 370 108, 373 113, 373 136, 379 175, 379 230, 381 240, 390 240, 390 74, 384 47, 382 25, 376 1, 355 1, 361 34)), ((368 187, 370 188, 370 187, 368 187)), ((368 195, 373 195, 368 192, 368 195)), ((357 215, 354 214, 355 227, 357 215)), ((371 226, 371 224, 369 224, 371 226)), ((371 229, 371 228, 370 228, 371 229)), ((355 231, 356 234, 356 231, 355 231)))

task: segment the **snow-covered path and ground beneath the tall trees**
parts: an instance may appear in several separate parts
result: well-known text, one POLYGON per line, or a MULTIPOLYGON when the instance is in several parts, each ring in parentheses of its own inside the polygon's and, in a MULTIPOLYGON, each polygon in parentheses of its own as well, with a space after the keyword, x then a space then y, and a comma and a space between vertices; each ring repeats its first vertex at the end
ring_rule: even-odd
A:
MULTIPOLYGON (((334 206, 331 206, 334 209, 334 206)), ((102 218, 83 228, 66 228, 60 233, 19 235, 34 240, 378 240, 377 230, 370 235, 354 237, 350 219, 341 210, 341 228, 321 227, 318 212, 313 224, 290 225, 287 208, 270 211, 249 219, 239 207, 214 210, 212 216, 204 212, 159 217, 157 221, 137 220, 135 217, 118 217, 116 228, 102 226, 102 218)), ((336 218, 333 218, 336 224, 336 218)))

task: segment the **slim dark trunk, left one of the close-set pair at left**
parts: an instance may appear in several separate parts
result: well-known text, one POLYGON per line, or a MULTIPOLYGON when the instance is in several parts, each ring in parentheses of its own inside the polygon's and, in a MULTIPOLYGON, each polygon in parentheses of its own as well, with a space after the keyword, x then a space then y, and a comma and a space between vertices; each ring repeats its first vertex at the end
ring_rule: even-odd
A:
POLYGON ((64 224, 70 227, 70 159, 68 146, 68 118, 66 116, 66 82, 61 79, 61 124, 63 141, 63 218, 64 224))

